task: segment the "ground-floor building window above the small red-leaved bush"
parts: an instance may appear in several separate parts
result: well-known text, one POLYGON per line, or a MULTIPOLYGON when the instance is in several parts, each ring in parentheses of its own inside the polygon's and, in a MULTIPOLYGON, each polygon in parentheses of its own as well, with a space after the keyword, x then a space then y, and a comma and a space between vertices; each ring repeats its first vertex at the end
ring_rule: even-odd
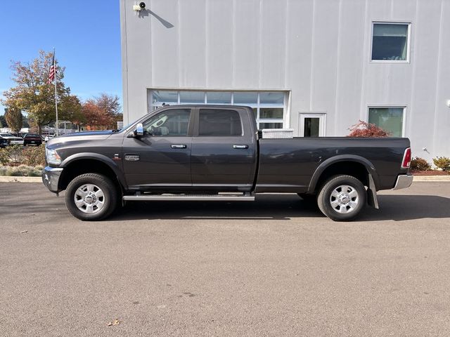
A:
POLYGON ((383 128, 391 137, 402 137, 404 110, 404 107, 369 107, 368 122, 383 128))

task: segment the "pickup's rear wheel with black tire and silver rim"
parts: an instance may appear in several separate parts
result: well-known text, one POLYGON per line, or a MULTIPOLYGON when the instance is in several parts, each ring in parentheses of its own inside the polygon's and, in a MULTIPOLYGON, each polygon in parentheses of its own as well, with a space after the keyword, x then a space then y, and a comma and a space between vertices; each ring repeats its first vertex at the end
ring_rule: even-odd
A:
POLYGON ((366 188, 353 176, 334 176, 322 186, 317 204, 331 220, 353 220, 366 205, 366 188))

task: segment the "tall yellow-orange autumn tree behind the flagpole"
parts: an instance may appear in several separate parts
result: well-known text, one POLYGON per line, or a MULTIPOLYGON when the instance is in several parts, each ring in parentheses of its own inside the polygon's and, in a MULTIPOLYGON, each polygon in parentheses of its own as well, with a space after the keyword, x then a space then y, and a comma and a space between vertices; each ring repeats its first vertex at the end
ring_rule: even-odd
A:
MULTIPOLYGON (((30 121, 36 124, 38 132, 41 128, 56 120, 54 84, 49 83, 49 70, 53 53, 39 51, 39 56, 32 62, 13 61, 13 81, 15 86, 4 92, 1 102, 11 109, 18 109, 28 113, 30 121)), ((71 113, 76 106, 75 99, 66 87, 64 79, 65 67, 56 62, 56 96, 58 99, 58 113, 60 119, 71 113)), ((79 102, 78 102, 79 103, 79 102)), ((81 107, 77 107, 81 109, 81 107)))

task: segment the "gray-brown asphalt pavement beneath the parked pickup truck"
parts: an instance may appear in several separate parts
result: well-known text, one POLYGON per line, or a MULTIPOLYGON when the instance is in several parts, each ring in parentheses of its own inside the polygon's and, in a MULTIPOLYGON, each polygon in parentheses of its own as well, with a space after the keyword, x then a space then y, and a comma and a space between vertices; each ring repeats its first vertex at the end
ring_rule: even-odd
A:
POLYGON ((295 194, 89 223, 0 183, 0 336, 450 336, 450 183, 379 201, 352 223, 295 194))

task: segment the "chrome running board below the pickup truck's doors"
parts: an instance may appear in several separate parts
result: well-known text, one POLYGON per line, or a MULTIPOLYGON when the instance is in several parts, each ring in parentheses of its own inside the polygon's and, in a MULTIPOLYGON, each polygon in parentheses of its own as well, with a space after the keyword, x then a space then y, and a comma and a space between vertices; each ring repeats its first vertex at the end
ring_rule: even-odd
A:
POLYGON ((124 195, 126 201, 255 201, 255 194, 134 194, 124 195))

